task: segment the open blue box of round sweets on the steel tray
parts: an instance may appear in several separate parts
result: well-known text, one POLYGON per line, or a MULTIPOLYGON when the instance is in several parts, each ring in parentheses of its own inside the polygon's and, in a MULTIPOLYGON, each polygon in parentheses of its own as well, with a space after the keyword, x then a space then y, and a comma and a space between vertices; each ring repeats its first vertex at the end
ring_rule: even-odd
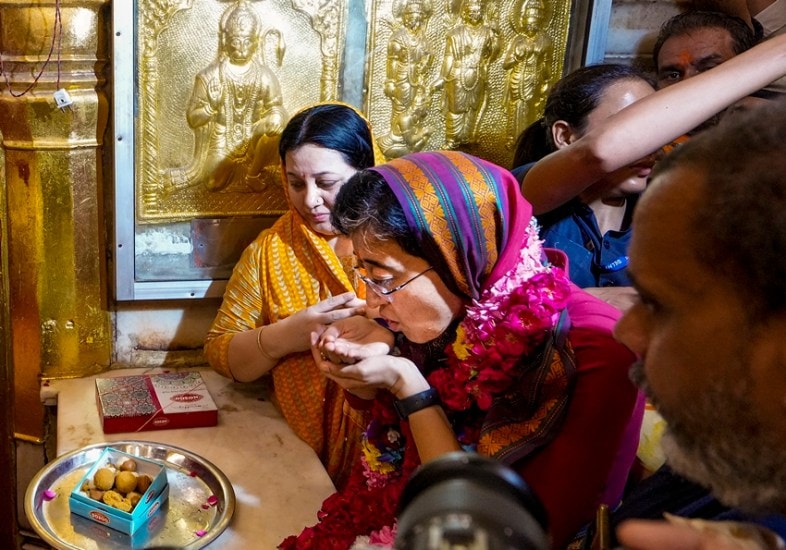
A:
POLYGON ((160 513, 168 497, 162 464, 109 447, 71 491, 68 502, 72 513, 132 535, 160 513))

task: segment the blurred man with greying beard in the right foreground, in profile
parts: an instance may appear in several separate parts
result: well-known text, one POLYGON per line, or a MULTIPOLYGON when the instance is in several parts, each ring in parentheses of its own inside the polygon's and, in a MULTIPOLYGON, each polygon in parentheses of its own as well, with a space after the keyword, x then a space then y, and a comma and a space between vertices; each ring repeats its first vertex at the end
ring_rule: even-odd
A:
POLYGON ((668 462, 750 523, 630 521, 619 540, 751 548, 764 533, 754 547, 766 548, 772 531, 786 535, 786 104, 732 117, 667 156, 634 226, 640 300, 616 335, 667 420, 668 462))

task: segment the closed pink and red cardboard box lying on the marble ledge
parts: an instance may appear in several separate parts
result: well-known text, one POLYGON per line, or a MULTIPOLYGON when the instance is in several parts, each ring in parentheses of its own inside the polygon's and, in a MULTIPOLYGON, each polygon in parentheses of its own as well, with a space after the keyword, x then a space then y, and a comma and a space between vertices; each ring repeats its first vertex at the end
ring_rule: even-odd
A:
POLYGON ((218 424, 218 408, 199 372, 97 378, 96 402, 104 433, 218 424))

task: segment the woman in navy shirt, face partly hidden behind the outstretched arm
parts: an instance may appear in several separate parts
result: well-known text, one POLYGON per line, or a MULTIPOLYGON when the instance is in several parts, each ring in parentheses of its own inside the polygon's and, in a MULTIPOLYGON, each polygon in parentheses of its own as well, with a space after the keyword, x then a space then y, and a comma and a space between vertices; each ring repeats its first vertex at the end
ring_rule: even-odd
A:
MULTIPOLYGON (((513 173, 523 180, 535 162, 654 91, 641 72, 625 65, 592 65, 570 73, 549 94, 543 118, 519 136, 513 173)), ((570 278, 580 287, 630 285, 625 268, 631 216, 653 163, 654 157, 645 157, 539 213, 545 245, 568 255, 570 278)))

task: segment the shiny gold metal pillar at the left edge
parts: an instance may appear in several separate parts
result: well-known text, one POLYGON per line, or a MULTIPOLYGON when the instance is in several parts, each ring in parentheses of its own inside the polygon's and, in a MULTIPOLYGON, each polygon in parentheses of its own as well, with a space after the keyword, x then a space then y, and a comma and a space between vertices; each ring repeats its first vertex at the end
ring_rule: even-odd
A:
POLYGON ((109 0, 0 0, 15 431, 43 435, 39 382, 106 368, 103 140, 109 0), (9 86, 10 82, 10 86, 9 86), (65 89, 73 104, 59 109, 65 89))

